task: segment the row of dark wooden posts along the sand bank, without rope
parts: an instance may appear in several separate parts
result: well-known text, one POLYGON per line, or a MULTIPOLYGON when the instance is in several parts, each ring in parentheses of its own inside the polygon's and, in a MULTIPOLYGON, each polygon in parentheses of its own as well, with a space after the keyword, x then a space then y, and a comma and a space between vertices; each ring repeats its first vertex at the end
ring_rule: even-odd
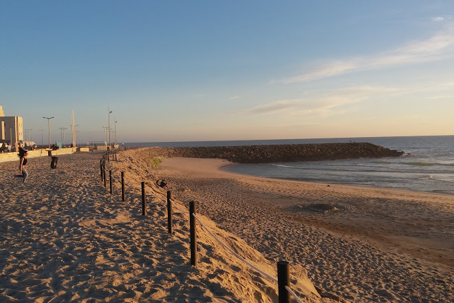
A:
MULTIPOLYGON (((114 154, 112 153, 112 160, 114 160, 114 154)), ((107 159, 109 159, 109 151, 106 152, 107 159)), ((109 160, 108 160, 109 161, 109 160)), ((104 157, 100 160, 100 175, 101 181, 104 181, 104 187, 106 184, 106 171, 105 171, 105 160, 104 157)), ((110 194, 112 191, 112 171, 109 170, 109 184, 110 194)), ((173 233, 173 207, 172 207, 172 194, 171 191, 167 191, 167 229, 169 233, 173 233)), ((125 173, 121 171, 121 200, 125 201, 125 173)), ((142 216, 147 215, 147 207, 145 201, 145 182, 142 181, 142 216)), ((189 225, 190 225, 190 249, 191 249, 191 265, 197 266, 197 229, 195 222, 195 201, 189 201, 189 225)), ((279 293, 279 303, 290 303, 290 295, 285 289, 285 286, 290 286, 290 270, 289 263, 286 261, 277 262, 277 284, 279 293)))

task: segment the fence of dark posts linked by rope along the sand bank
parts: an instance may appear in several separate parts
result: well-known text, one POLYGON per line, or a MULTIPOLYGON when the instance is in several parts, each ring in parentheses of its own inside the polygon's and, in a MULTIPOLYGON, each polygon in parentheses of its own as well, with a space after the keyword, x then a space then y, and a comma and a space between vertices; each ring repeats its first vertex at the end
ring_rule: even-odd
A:
MULTIPOLYGON (((123 149, 123 150, 126 150, 123 149)), ((107 159, 107 162, 109 162, 109 158, 111 157, 112 160, 116 160, 117 154, 117 149, 109 149, 105 152, 105 154, 102 156, 102 160, 100 160, 100 175, 101 175, 101 181, 104 181, 104 187, 106 187, 106 165, 105 165, 105 160, 107 159)), ((133 165, 133 163, 131 163, 133 165)), ((133 165, 136 169, 139 171, 143 171, 136 165, 133 165)), ((113 193, 112 191, 112 171, 109 170, 109 184, 110 184, 110 194, 113 193)), ((130 184, 130 183, 128 183, 130 184)), ((145 187, 144 187, 145 182, 142 181, 141 183, 141 188, 142 188, 142 216, 147 215, 147 210, 146 210, 146 192, 145 192, 145 187)), ((121 188, 122 188, 122 201, 125 201, 125 175, 124 172, 121 171, 121 188)), ((157 196, 151 194, 154 198, 157 196)), ((190 219, 190 240, 191 240, 191 265, 196 266, 197 265, 197 236, 196 236, 196 227, 195 227, 195 222, 199 222, 199 224, 204 228, 208 234, 213 237, 219 244, 221 244, 222 247, 224 247, 228 252, 232 253, 237 257, 239 260, 244 262, 245 264, 248 264, 249 267, 252 267, 255 271, 263 275, 264 277, 268 278, 272 282, 276 282, 278 284, 278 293, 279 293, 279 303, 290 303, 290 295, 294 297, 294 300, 298 303, 303 303, 301 299, 292 291, 290 288, 290 275, 289 275, 289 263, 285 261, 279 261, 277 262, 277 275, 278 278, 274 278, 271 275, 268 275, 268 273, 262 271, 258 267, 256 267, 254 264, 246 260, 245 258, 241 257, 238 253, 233 251, 230 247, 228 247, 227 244, 225 244, 222 240, 220 240, 214 233, 213 231, 210 231, 208 227, 200 220, 196 214, 195 214, 195 202, 190 201, 189 202, 189 211, 186 211, 184 209, 181 209, 178 207, 175 202, 171 198, 171 191, 167 191, 167 209, 168 209, 168 224, 169 224, 169 233, 173 233, 173 223, 172 223, 172 213, 173 213, 173 208, 177 209, 177 211, 180 211, 180 213, 186 213, 189 216, 190 219), (290 294, 290 295, 289 295, 290 294)))

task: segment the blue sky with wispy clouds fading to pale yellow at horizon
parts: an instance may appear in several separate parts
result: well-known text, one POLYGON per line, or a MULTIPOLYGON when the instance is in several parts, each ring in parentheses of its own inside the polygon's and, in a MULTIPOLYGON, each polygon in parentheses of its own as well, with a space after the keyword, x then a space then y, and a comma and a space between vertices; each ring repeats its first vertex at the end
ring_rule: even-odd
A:
POLYGON ((0 0, 0 105, 38 144, 452 135, 454 1, 0 0))

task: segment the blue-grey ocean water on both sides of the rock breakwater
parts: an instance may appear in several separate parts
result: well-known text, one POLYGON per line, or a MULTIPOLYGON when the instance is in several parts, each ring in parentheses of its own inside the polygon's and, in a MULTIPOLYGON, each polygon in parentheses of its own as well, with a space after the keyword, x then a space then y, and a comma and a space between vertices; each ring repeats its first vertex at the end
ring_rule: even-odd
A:
POLYGON ((454 195, 454 136, 193 141, 127 143, 126 145, 195 147, 348 142, 374 143, 389 149, 404 151, 405 154, 397 158, 233 164, 224 167, 224 170, 266 178, 454 195))

